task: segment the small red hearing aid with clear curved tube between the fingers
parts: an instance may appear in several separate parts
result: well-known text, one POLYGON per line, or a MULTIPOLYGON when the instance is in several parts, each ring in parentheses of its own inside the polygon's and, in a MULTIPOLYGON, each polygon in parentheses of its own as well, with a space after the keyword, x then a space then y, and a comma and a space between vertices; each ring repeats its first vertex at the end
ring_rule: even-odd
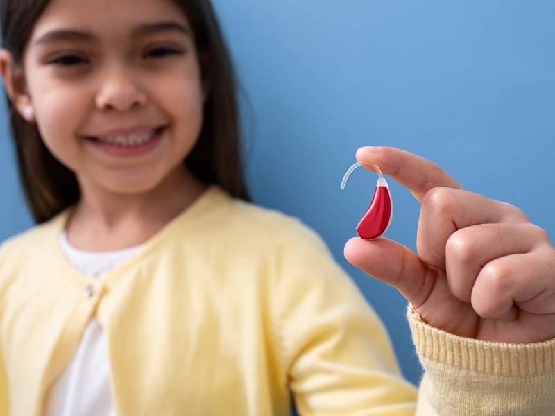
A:
MULTIPOLYGON (((349 168, 341 181, 341 189, 345 189, 345 184, 350 174, 361 165, 363 163, 357 162, 349 168)), ((379 177, 374 189, 374 196, 370 201, 368 209, 366 209, 366 213, 364 213, 364 216, 362 216, 357 224, 356 229, 361 239, 375 240, 382 236, 389 228, 389 225, 391 225, 393 200, 391 200, 391 192, 389 191, 387 181, 379 167, 373 163, 364 163, 364 165, 373 166, 379 177)))

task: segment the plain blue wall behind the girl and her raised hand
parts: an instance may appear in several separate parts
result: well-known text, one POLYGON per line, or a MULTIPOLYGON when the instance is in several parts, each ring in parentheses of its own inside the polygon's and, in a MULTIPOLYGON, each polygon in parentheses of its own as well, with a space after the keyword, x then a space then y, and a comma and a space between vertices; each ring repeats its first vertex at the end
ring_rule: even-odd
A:
MULTIPOLYGON (((320 233, 384 320, 404 375, 421 369, 393 288, 343 245, 370 201, 360 146, 431 159, 469 189, 523 209, 550 236, 555 182, 555 2, 216 0, 244 94, 255 202, 320 233)), ((0 109, 0 240, 33 225, 0 109)), ((387 236, 416 250, 420 205, 390 180, 387 236)))

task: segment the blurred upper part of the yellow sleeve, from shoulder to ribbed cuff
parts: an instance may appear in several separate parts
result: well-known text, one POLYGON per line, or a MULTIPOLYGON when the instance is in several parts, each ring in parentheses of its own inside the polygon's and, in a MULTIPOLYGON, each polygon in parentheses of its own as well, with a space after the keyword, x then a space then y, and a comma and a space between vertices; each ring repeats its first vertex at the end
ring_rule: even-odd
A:
POLYGON ((403 379, 382 322, 323 241, 303 227, 275 239, 275 338, 300 415, 413 416, 416 387, 403 379))

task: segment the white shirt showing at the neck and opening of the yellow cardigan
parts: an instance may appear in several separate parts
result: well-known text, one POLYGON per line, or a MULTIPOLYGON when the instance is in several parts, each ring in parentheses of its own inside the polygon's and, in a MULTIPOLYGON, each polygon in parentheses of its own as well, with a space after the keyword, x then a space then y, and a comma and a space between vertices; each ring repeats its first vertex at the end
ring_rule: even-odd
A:
MULTIPOLYGON (((69 262, 80 272, 101 279, 142 245, 111 252, 88 252, 74 248, 62 232, 60 245, 69 262)), ((45 403, 45 416, 116 416, 110 384, 110 363, 102 327, 92 318, 74 358, 52 385, 45 403)))

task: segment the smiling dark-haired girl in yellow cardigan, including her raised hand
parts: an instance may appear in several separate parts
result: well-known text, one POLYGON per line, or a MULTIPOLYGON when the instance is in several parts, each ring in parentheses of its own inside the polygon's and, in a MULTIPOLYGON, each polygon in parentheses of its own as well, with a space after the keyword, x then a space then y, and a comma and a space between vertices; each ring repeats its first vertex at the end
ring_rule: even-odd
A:
POLYGON ((345 246, 411 304, 417 395, 323 241, 249 202, 209 1, 1 6, 37 226, 0 249, 0 415, 286 415, 289 389, 306 415, 554 408, 555 252, 520 210, 402 150, 357 152, 422 202, 418 256, 345 246))

